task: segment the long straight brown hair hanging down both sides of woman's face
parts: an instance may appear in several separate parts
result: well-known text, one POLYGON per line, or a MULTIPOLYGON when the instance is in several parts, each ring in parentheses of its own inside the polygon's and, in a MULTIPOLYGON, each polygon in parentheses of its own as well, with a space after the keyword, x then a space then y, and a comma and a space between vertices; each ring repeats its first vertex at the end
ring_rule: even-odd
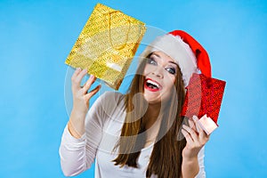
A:
MULTIPOLYGON (((120 139, 114 147, 114 150, 119 148, 119 154, 113 160, 116 166, 122 167, 127 165, 137 167, 137 158, 146 142, 146 137, 143 134, 145 132, 144 117, 140 117, 139 113, 133 112, 133 110, 137 110, 137 112, 143 113, 145 112, 143 109, 146 109, 147 103, 142 98, 140 98, 138 104, 134 104, 134 95, 143 93, 144 77, 142 72, 146 63, 147 61, 143 60, 140 64, 129 91, 125 95, 125 123, 122 127, 120 139)), ((158 178, 176 178, 182 174, 182 150, 186 142, 180 135, 183 122, 183 117, 180 116, 180 113, 184 97, 182 73, 178 67, 170 101, 164 106, 165 110, 156 143, 150 156, 146 177, 150 177, 151 174, 157 174, 158 178), (178 139, 179 137, 180 139, 178 139)))

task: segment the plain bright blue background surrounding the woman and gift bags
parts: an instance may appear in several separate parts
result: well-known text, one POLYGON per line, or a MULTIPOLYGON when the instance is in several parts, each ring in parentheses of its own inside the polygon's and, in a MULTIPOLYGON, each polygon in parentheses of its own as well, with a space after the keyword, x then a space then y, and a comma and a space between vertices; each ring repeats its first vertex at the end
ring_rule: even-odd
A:
POLYGON ((205 46, 214 77, 227 81, 206 175, 266 177, 267 3, 179 0, 0 0, 0 176, 64 177, 64 61, 98 2, 205 46))

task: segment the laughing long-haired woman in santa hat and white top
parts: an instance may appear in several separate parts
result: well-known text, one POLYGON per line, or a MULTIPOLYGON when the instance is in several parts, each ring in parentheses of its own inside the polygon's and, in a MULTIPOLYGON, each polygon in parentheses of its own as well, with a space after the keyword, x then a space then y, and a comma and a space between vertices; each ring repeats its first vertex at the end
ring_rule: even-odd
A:
POLYGON ((141 57, 129 92, 102 94, 88 113, 100 86, 87 93, 95 77, 80 87, 86 70, 73 74, 73 109, 60 148, 65 175, 84 172, 95 159, 95 177, 206 176, 209 136, 198 118, 180 116, 190 76, 199 67, 210 71, 206 51, 175 30, 159 36, 141 57))

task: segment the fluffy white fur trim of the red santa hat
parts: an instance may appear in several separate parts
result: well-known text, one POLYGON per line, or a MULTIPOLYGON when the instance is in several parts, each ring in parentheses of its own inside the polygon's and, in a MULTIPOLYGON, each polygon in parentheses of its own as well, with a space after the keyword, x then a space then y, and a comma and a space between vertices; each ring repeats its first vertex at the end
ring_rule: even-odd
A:
POLYGON ((177 62, 182 70, 184 86, 189 84, 193 73, 198 73, 196 56, 190 49, 189 44, 184 43, 180 36, 173 36, 171 34, 158 36, 156 40, 147 46, 141 56, 145 58, 153 52, 166 53, 166 55, 177 62))

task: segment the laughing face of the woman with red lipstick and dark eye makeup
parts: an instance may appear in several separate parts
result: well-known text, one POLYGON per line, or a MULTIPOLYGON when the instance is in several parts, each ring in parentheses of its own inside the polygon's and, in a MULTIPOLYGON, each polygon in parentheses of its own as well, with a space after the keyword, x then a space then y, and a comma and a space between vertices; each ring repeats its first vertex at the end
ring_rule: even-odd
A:
POLYGON ((161 52, 152 53, 143 71, 146 101, 167 101, 173 91, 177 70, 177 64, 171 57, 161 52))

